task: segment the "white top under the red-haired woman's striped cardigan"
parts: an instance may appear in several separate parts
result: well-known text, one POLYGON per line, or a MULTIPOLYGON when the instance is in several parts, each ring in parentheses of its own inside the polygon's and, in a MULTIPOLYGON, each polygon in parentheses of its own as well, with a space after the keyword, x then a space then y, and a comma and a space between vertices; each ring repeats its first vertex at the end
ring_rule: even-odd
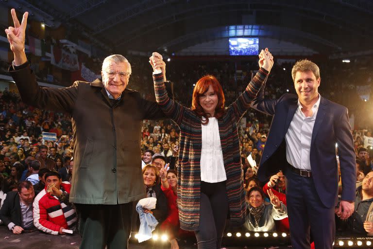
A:
POLYGON ((213 183, 226 179, 218 120, 208 118, 208 124, 202 125, 201 180, 213 183))

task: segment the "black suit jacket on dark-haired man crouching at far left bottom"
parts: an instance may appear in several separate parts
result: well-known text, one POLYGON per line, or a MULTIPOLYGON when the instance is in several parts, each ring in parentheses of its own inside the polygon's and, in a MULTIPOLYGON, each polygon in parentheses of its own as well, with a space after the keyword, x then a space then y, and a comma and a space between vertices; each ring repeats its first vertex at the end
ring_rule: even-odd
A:
POLYGON ((0 210, 0 220, 6 226, 13 222, 16 226, 22 226, 21 205, 19 204, 19 195, 17 191, 8 192, 4 204, 0 210))

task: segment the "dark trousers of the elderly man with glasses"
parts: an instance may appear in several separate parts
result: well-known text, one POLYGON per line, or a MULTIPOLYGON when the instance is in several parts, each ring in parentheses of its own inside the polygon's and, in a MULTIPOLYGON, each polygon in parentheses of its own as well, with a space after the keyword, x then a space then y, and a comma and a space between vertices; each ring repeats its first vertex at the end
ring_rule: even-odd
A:
POLYGON ((80 249, 127 249, 132 202, 117 205, 75 204, 79 215, 80 249))

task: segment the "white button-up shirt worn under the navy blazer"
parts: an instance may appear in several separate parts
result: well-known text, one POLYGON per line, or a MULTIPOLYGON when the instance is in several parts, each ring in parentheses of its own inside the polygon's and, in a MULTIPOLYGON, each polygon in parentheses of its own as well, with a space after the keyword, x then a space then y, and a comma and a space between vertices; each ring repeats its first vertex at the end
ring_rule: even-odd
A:
POLYGON ((302 105, 298 99, 298 108, 285 135, 286 159, 288 163, 297 169, 311 170, 309 152, 320 99, 321 96, 319 94, 319 100, 312 107, 311 117, 305 117, 305 114, 302 112, 302 105))

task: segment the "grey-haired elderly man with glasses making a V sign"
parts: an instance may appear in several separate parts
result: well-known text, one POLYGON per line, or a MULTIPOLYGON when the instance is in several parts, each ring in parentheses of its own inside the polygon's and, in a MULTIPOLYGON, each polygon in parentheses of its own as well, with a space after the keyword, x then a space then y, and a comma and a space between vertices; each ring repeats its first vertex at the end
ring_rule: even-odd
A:
POLYGON ((9 71, 22 101, 72 116, 76 166, 69 201, 80 215, 80 248, 127 248, 132 202, 145 195, 141 171, 133 163, 141 155, 138 134, 143 119, 164 114, 127 88, 131 65, 119 54, 104 59, 102 80, 76 81, 62 89, 39 87, 24 52, 28 13, 21 23, 14 9, 11 13, 14 27, 5 30, 14 53, 9 71))

